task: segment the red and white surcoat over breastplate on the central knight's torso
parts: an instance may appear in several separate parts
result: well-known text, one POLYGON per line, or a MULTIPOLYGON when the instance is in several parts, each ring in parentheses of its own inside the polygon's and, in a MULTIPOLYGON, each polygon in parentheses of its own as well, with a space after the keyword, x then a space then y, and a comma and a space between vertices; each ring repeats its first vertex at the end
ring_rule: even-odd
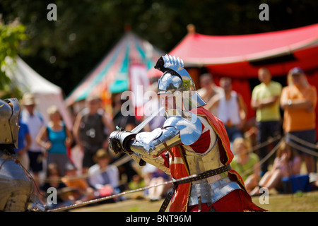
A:
MULTIPOLYGON (((202 133, 192 145, 181 144, 171 148, 174 155, 173 159, 170 155, 169 160, 165 159, 165 164, 169 167, 170 174, 175 179, 229 165, 233 158, 230 141, 223 122, 203 107, 192 109, 192 112, 199 117, 202 123, 202 133)), ((200 194, 198 194, 198 191, 194 192, 194 189, 200 192, 200 188, 202 196, 201 211, 209 210, 212 206, 216 211, 262 210, 252 203, 251 197, 245 191, 242 178, 233 169, 199 182, 179 184, 175 195, 172 197, 169 210, 172 212, 198 210, 199 203, 197 203, 197 200, 200 194), (202 184, 204 185, 202 186, 202 184), (216 188, 214 191, 206 191, 206 189, 213 189, 213 187, 216 188), (204 193, 210 193, 211 195, 208 196, 204 193), (210 201, 204 202, 204 196, 208 196, 207 198, 210 201)))

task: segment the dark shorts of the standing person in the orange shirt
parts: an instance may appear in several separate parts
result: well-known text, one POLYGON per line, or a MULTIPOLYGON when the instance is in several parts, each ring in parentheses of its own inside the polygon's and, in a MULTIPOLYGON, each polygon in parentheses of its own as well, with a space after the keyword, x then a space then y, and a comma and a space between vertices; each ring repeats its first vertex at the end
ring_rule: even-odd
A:
MULTIPOLYGON (((310 151, 316 151, 316 149, 314 148, 311 148, 305 144, 302 144, 298 141, 294 141, 293 138, 291 138, 289 136, 289 134, 293 135, 293 136, 296 136, 298 138, 300 138, 302 141, 305 141, 307 143, 312 143, 312 144, 315 144, 316 143, 316 140, 317 140, 317 137, 316 137, 316 129, 309 129, 309 130, 303 130, 303 131, 290 131, 288 133, 286 133, 286 141, 291 141, 293 143, 296 143, 297 145, 300 145, 302 146, 303 148, 305 149, 308 149, 310 151)), ((305 153, 304 151, 302 150, 298 150, 297 148, 294 148, 295 150, 297 150, 297 152, 300 154, 300 155, 307 155, 307 156, 312 156, 310 155, 310 153, 305 153)))

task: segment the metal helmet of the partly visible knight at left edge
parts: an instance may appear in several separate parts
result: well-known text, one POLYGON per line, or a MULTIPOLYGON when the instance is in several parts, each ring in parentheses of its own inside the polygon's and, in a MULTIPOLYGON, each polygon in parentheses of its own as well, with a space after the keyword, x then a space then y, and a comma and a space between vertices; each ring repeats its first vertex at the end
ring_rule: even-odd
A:
POLYGON ((18 148, 20 105, 16 98, 0 100, 0 143, 18 148))

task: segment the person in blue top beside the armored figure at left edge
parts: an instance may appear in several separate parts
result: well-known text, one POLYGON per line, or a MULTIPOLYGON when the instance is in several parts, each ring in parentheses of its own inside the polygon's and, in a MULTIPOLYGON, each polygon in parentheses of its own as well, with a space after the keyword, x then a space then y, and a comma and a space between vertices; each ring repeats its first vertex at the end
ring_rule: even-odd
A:
POLYGON ((18 148, 14 148, 16 151, 16 155, 18 155, 18 160, 25 167, 25 169, 29 170, 30 160, 28 156, 28 150, 32 143, 30 131, 28 129, 28 125, 23 123, 21 119, 19 119, 19 133, 18 133, 18 148))

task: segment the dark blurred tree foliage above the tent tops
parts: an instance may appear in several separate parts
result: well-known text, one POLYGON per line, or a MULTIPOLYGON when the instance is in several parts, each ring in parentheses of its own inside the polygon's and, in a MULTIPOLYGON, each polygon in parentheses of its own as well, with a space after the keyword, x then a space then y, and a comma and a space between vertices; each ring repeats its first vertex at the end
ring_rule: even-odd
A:
POLYGON ((21 57, 68 94, 124 35, 128 26, 165 52, 187 35, 187 25, 206 35, 242 35, 318 22, 318 1, 306 0, 2 0, 7 22, 20 18, 30 39, 21 57), (57 20, 47 20, 47 5, 57 20), (259 5, 269 5, 269 21, 259 5))

